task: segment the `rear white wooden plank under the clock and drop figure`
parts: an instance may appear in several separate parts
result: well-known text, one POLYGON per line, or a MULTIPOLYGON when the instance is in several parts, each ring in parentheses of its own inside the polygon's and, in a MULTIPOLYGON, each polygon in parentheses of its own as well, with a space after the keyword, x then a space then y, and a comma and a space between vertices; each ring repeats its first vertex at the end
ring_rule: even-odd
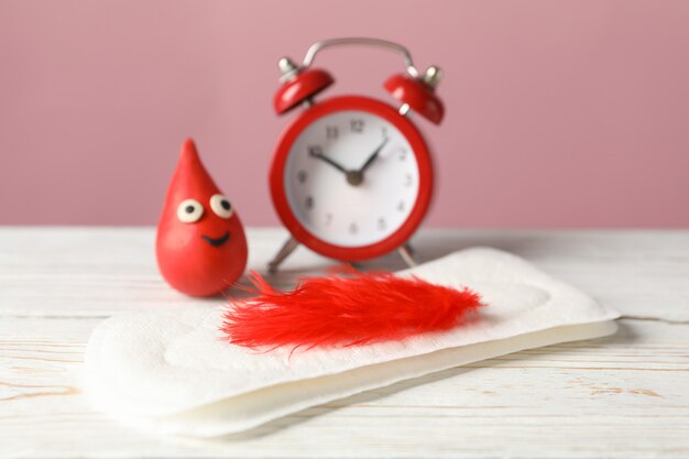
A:
MULTIPOLYGON (((250 229, 250 267, 260 272, 286 232, 250 229)), ((105 317, 122 310, 215 305, 169 289, 155 267, 152 228, 0 228, 0 316, 105 317)), ((433 260, 489 245, 524 256, 634 317, 689 321, 689 231, 425 230, 417 252, 433 260)), ((277 286, 332 262, 297 249, 277 286)), ((396 254, 363 267, 403 267, 396 254)))

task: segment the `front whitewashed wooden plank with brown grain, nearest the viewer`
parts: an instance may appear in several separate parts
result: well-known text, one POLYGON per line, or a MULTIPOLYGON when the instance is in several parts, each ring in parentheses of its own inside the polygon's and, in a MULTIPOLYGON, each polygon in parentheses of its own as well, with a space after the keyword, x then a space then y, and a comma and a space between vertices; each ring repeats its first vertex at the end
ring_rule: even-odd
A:
POLYGON ((623 320, 613 337, 444 371, 200 441, 133 431, 90 407, 79 372, 98 323, 0 319, 0 457, 689 456, 688 325, 623 320))

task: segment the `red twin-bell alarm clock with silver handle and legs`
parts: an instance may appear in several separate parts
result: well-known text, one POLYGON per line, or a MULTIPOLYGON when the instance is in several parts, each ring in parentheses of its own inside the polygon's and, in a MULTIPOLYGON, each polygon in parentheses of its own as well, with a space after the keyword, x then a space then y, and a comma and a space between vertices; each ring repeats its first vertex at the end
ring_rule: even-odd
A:
POLYGON ((408 240, 428 210, 434 179, 428 145, 408 113, 436 124, 442 120, 444 106, 435 94, 438 67, 419 75, 405 47, 374 39, 326 40, 309 47, 300 66, 287 57, 278 65, 283 86, 275 111, 303 111, 280 138, 271 165, 273 204, 292 237, 270 270, 277 270, 299 243, 342 261, 398 250, 413 265, 408 240), (363 96, 316 102, 333 78, 311 63, 319 51, 336 45, 401 53, 406 72, 384 84, 400 107, 363 96))

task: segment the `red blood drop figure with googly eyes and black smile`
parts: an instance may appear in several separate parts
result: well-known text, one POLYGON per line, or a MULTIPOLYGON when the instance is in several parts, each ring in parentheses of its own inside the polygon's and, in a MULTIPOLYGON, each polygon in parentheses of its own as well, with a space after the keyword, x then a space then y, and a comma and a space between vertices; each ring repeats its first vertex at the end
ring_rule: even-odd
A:
POLYGON ((182 145, 167 189, 155 253, 165 281, 192 296, 222 292, 247 266, 239 216, 206 172, 192 139, 182 145))

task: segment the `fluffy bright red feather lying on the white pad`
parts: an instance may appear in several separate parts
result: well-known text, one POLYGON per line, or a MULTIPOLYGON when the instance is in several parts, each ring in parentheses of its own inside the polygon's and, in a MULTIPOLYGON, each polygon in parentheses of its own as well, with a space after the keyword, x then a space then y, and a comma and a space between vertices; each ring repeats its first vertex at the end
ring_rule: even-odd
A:
POLYGON ((483 306, 469 288, 390 273, 306 277, 292 292, 275 291, 253 271, 249 280, 259 296, 233 304, 221 330, 231 343, 254 349, 400 340, 453 328, 483 306))

